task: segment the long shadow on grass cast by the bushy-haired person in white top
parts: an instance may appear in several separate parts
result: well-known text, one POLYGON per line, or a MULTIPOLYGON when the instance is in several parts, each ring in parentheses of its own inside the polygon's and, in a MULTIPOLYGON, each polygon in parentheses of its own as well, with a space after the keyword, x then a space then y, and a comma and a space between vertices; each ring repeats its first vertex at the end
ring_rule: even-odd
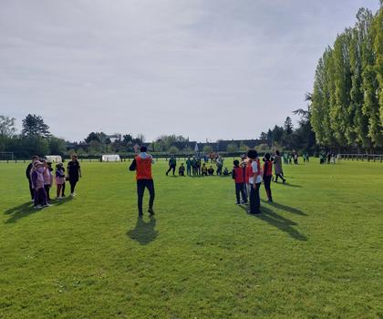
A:
MULTIPOLYGON (((244 206, 241 206, 241 207, 243 208, 243 210, 247 212, 247 207, 244 207, 244 206)), ((278 230, 282 232, 286 232, 297 241, 303 241, 303 242, 307 241, 307 238, 305 237, 305 235, 296 231, 295 228, 293 227, 297 225, 295 221, 290 221, 289 219, 278 215, 276 212, 264 206, 261 207, 261 212, 262 212, 261 214, 249 215, 249 216, 254 216, 255 218, 258 218, 262 221, 268 222, 269 224, 276 227, 278 230)))

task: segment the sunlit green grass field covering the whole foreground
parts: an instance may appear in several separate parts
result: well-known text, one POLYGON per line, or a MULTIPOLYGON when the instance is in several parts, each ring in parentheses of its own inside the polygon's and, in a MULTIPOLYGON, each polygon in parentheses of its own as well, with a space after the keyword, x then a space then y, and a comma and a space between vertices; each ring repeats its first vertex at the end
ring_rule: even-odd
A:
POLYGON ((255 217, 162 161, 143 221, 128 163, 84 162, 40 211, 25 166, 0 164, 0 318, 383 318, 381 163, 285 166, 255 217))

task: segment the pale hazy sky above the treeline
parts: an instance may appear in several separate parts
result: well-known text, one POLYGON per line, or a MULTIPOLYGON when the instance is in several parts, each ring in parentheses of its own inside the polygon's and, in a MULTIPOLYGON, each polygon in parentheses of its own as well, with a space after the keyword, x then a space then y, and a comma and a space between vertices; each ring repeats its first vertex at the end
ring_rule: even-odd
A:
POLYGON ((305 106, 362 6, 378 0, 1 0, 0 114, 71 140, 254 139, 305 106))

